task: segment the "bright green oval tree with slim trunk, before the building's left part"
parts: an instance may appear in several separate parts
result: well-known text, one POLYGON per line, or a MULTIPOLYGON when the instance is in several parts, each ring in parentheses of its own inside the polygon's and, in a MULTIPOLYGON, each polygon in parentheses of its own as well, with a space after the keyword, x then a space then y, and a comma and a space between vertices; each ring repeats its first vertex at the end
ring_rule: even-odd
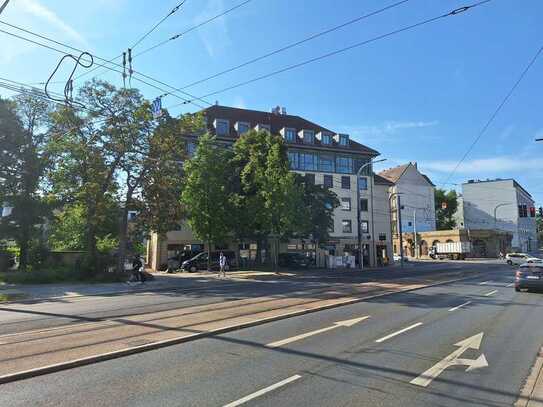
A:
POLYGON ((195 235, 207 243, 208 269, 211 244, 224 241, 232 230, 228 181, 231 153, 209 134, 200 137, 196 154, 184 165, 181 202, 195 235))

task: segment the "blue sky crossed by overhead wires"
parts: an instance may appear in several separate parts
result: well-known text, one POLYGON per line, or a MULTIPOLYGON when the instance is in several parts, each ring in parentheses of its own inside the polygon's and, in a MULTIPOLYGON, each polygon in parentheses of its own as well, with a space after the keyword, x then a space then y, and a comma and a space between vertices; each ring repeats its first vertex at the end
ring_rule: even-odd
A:
MULTIPOLYGON (((476 1, 409 0, 184 90, 207 95, 476 1)), ((0 21, 109 59, 136 43, 179 2, 11 0, 0 21)), ((134 48, 134 55, 244 2, 186 0, 134 48)), ((136 57, 133 67, 168 85, 184 87, 396 2, 251 0, 136 57)), ((514 178, 539 206, 543 205, 543 142, 534 139, 543 137, 543 55, 462 165, 450 173, 543 45, 541 16, 541 0, 492 0, 206 99, 264 111, 284 106, 289 114, 348 133, 379 151, 386 161, 377 169, 416 161, 438 187, 458 188, 468 179, 514 178)), ((33 38, 4 24, 0 29, 33 38)), ((61 56, 0 32, 0 77, 44 82, 61 56)), ((71 68, 70 63, 63 64, 53 80, 65 80, 71 68)), ((81 73, 85 69, 78 67, 76 75, 81 73)), ((122 86, 120 73, 100 68, 77 80, 76 87, 94 75, 122 86)), ((149 99, 170 90, 135 79, 131 85, 149 99)), ((57 91, 63 87, 55 86, 57 91)), ((0 95, 11 93, 0 89, 0 95)), ((170 95, 162 103, 169 107, 180 102, 170 95)), ((197 110, 185 104, 170 112, 197 110)))

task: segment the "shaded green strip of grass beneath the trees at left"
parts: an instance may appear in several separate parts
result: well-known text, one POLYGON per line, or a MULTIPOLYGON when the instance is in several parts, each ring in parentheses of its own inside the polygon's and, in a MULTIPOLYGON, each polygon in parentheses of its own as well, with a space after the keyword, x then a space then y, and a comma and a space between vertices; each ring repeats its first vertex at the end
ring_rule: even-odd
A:
POLYGON ((72 268, 56 268, 0 273, 0 283, 6 284, 53 284, 53 283, 113 283, 126 281, 126 273, 101 273, 88 276, 72 268))

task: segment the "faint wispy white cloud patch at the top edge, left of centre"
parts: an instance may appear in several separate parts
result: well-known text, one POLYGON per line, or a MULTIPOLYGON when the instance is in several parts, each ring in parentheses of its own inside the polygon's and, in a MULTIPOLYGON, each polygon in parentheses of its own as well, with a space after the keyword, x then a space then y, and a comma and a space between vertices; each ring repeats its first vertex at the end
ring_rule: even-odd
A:
MULTIPOLYGON (((196 16, 194 19, 195 24, 199 24, 217 14, 220 14, 225 10, 223 0, 210 0, 207 3, 207 7, 196 16)), ((211 57, 218 55, 221 50, 228 47, 231 44, 228 25, 226 23, 227 17, 220 17, 213 21, 213 24, 206 24, 198 29, 198 34, 204 43, 207 53, 211 57)))

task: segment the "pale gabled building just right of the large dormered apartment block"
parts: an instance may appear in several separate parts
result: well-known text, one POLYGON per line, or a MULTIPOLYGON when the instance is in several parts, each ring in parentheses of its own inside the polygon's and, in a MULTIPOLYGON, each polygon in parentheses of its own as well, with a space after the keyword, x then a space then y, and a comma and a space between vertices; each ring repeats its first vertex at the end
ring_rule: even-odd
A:
POLYGON ((436 230, 435 186, 430 178, 419 172, 416 162, 389 168, 381 171, 379 175, 392 183, 389 196, 392 205, 392 229, 395 235, 398 225, 396 218, 398 196, 402 208, 403 233, 436 230))

